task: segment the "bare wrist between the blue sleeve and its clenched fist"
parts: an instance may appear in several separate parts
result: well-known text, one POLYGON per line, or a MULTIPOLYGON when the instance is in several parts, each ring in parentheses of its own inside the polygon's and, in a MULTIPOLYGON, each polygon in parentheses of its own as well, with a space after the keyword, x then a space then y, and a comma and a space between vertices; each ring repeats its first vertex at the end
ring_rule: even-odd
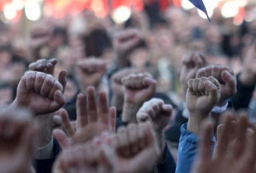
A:
POLYGON ((189 119, 187 122, 187 130, 194 133, 197 136, 201 136, 201 126, 202 122, 210 118, 210 113, 200 114, 191 113, 189 114, 189 119))

